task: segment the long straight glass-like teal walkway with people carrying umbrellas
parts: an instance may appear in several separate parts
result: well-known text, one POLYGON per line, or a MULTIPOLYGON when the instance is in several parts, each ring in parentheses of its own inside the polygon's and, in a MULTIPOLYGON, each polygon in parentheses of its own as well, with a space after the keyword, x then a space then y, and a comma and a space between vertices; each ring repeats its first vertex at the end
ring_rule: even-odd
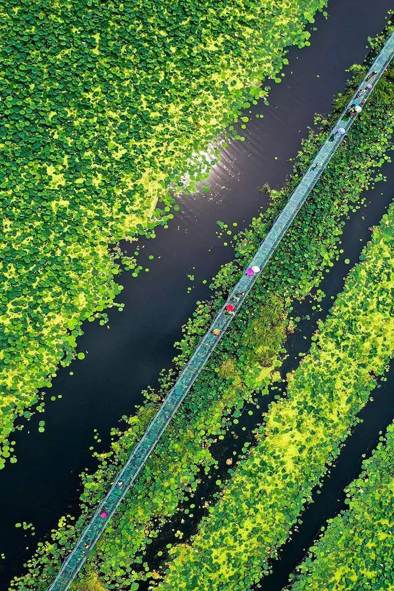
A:
POLYGON ((196 381, 201 369, 203 369, 220 338, 223 336, 230 322, 232 322, 237 310, 239 310, 239 307, 245 300, 248 292, 255 284, 261 269, 265 267, 271 258, 286 230, 293 222, 295 216, 297 216, 302 204, 307 199, 318 178, 336 152, 338 145, 340 145, 344 138, 344 134, 350 129, 354 119, 358 115, 357 111, 360 111, 359 106, 369 97, 373 87, 375 87, 393 57, 394 33, 386 41, 385 46, 374 61, 369 73, 360 84, 340 119, 338 119, 337 124, 334 125, 330 136, 317 152, 314 161, 308 167, 301 182, 289 198, 288 203, 276 218, 268 235, 262 241, 252 261, 250 261, 248 270, 245 269, 245 273, 233 288, 226 304, 213 320, 208 332, 201 339, 190 361, 184 366, 176 384, 168 393, 157 415, 155 415, 146 429, 144 436, 133 448, 129 459, 116 476, 108 494, 97 507, 95 514, 83 530, 79 540, 77 540, 73 551, 64 561, 63 566, 48 591, 65 591, 69 588, 74 577, 86 561, 89 549, 95 545, 105 530, 109 519, 115 513, 126 492, 128 492, 142 466, 144 466, 146 459, 148 459, 149 455, 155 449, 157 442, 176 413, 177 408, 184 400, 194 381, 196 381), (250 270, 252 268, 255 269, 254 272, 250 270), (230 312, 226 308, 229 304, 233 307, 233 310, 230 312))

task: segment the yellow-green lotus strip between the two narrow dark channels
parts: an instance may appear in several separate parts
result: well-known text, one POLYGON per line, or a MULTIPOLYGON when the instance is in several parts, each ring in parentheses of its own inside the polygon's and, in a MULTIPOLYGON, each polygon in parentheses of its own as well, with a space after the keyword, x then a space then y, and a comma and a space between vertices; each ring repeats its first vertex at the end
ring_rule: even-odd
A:
MULTIPOLYGON (((375 388, 376 376, 394 354, 393 222, 394 205, 363 249, 330 316, 319 323, 310 352, 288 375, 286 397, 270 405, 256 431, 258 444, 233 470, 191 543, 172 551, 160 591, 248 591, 269 570, 269 559, 297 525, 312 489, 338 456, 375 388)), ((393 484, 390 475, 385 506, 392 502, 393 484)), ((384 507, 376 501, 383 517, 384 507)), ((369 518, 372 525, 373 515, 369 518)), ((385 525, 389 529, 394 522, 385 525)), ((331 550, 327 554, 328 563, 335 563, 331 550)), ((343 574, 347 565, 341 566, 343 574)), ((318 589, 321 574, 315 586, 303 589, 318 589)), ((327 580, 323 586, 359 589, 328 587, 327 580)))

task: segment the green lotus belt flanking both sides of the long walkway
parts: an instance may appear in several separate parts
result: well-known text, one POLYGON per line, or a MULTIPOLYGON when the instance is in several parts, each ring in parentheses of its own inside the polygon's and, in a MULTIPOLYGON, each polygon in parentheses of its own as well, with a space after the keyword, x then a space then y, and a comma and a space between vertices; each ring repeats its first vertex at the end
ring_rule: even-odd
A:
MULTIPOLYGON (((302 170, 325 138, 327 122, 321 118, 318 121, 322 130, 316 136, 311 133, 304 142, 294 177, 284 190, 273 192, 268 211, 256 218, 246 232, 240 233, 235 261, 223 267, 213 281, 212 300, 198 305, 180 343, 176 360, 179 367, 190 356, 211 314, 222 304, 222 294, 233 285, 240 269, 250 260, 292 187, 297 184, 302 170)), ((229 421, 236 420, 246 400, 267 391, 271 368, 278 365, 281 351, 276 352, 271 368, 262 368, 250 343, 243 345, 245 327, 252 326, 262 314, 271 313, 268 310, 273 307, 278 310, 279 322, 287 314, 289 323, 294 323, 290 317, 292 298, 305 297, 319 284, 340 256, 344 217, 360 205, 362 191, 382 178, 377 168, 390 160, 386 152, 391 146, 392 124, 388 104, 376 103, 371 98, 363 117, 352 129, 349 142, 337 152, 310 201, 302 208, 274 258, 264 269, 261 281, 249 294, 239 317, 235 318, 232 332, 223 337, 223 342, 174 417, 171 431, 164 434, 157 451, 133 486, 132 494, 125 498, 119 514, 97 544, 97 551, 93 551, 89 567, 95 566, 100 571, 100 578, 108 588, 131 586, 136 589, 137 571, 144 568, 141 567, 141 554, 151 539, 157 537, 163 522, 196 488, 199 470, 209 472, 214 462, 209 450, 211 443, 223 438, 229 421), (284 303, 283 309, 278 306, 279 301, 284 303), (226 371, 223 363, 227 366, 226 371)), ((76 524, 72 518, 61 519, 51 541, 39 546, 38 553, 28 563, 28 573, 14 580, 12 589, 43 591, 48 580, 53 579, 61 558, 73 544, 76 530, 80 530, 108 489, 114 473, 125 461, 133 442, 141 436, 173 380, 173 371, 164 374, 159 391, 146 393, 146 405, 139 414, 125 417, 125 430, 114 430, 112 449, 99 456, 97 472, 83 474, 82 517, 76 524)))

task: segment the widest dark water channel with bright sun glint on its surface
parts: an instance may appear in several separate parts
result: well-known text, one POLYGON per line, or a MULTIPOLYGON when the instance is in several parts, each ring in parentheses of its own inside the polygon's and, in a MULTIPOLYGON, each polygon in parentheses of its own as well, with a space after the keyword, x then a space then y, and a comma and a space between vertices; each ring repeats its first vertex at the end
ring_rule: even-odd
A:
MULTIPOLYGON (((344 69, 363 60, 367 36, 382 30, 391 5, 389 0, 375 0, 373 7, 367 0, 330 2, 328 20, 321 15, 316 19, 312 46, 289 52, 286 76, 280 85, 272 85, 270 106, 253 107, 253 113, 264 118, 252 118, 243 134, 246 141, 230 142, 224 151, 222 163, 212 171, 210 192, 183 197, 170 228, 158 228, 154 241, 140 242, 140 260, 148 263, 150 254, 155 259, 140 262, 150 271, 136 279, 122 275, 125 288, 119 301, 125 302, 125 310, 109 311, 109 329, 84 324, 79 350, 87 351, 86 359, 58 372, 45 413, 15 433, 18 463, 1 471, 0 552, 6 555, 0 566, 2 589, 58 518, 77 511, 78 475, 96 464, 89 451, 93 429, 100 433, 102 449, 108 447, 110 427, 133 412, 142 400, 141 390, 155 385, 159 370, 170 366, 181 325, 196 301, 209 296, 201 280, 232 259, 232 250, 215 235, 216 221, 237 222, 237 230, 242 229, 266 206, 258 187, 284 184, 291 171, 288 160, 307 135, 314 113, 330 112, 333 95, 344 87, 344 69), (193 283, 189 272, 195 276, 193 283), (193 285, 190 294, 188 285, 193 285), (51 395, 61 399, 50 402, 51 395), (44 433, 37 432, 41 419, 44 433), (32 522, 35 538, 15 529, 22 521, 32 522)), ((356 226, 348 238, 357 243, 358 232, 356 226)), ((333 272, 330 278, 335 281, 333 272)))

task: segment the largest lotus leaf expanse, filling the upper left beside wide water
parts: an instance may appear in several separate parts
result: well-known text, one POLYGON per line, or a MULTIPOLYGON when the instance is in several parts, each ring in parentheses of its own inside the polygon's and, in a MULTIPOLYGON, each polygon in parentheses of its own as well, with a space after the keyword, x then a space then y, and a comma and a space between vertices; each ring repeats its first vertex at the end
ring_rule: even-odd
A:
POLYGON ((42 410, 82 322, 120 305, 119 264, 141 268, 109 245, 173 217, 168 187, 188 173, 194 189, 200 152, 267 95, 263 80, 281 81, 285 48, 310 44, 324 4, 2 5, 0 467, 15 417, 42 410))

